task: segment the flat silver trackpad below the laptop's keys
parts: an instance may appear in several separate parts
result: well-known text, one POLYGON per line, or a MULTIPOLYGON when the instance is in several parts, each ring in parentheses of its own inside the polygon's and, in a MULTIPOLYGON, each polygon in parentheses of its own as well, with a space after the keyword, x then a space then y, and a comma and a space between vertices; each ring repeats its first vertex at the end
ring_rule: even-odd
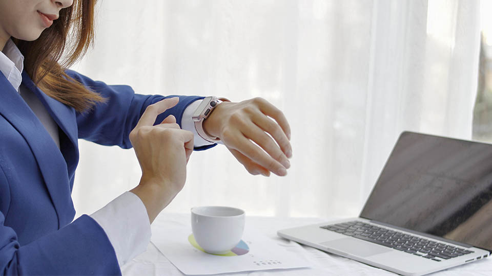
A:
POLYGON ((360 257, 368 257, 368 256, 392 251, 392 249, 385 248, 381 245, 373 244, 371 242, 359 240, 356 238, 343 238, 339 240, 322 242, 320 244, 328 248, 333 248, 338 251, 342 251, 360 257))

